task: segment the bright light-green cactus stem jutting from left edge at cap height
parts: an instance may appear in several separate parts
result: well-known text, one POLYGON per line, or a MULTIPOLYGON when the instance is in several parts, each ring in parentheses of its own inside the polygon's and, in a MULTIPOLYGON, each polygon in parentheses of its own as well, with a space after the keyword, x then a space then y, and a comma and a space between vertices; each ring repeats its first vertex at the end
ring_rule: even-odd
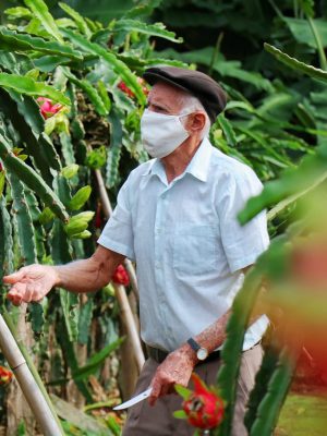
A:
POLYGON ((35 82, 31 77, 20 76, 17 74, 0 73, 0 86, 33 97, 47 97, 66 106, 70 106, 71 104, 71 100, 68 97, 55 89, 52 86, 46 85, 41 82, 35 82))

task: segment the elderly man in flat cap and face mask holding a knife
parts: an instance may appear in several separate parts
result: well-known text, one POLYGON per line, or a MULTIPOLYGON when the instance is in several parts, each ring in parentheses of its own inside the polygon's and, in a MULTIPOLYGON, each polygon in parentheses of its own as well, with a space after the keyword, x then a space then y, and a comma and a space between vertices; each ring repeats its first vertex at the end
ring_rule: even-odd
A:
MULTIPOLYGON (((240 227, 237 214, 261 182, 245 165, 214 148, 207 134, 226 96, 207 75, 173 66, 144 74, 153 85, 141 122, 154 158, 131 172, 95 254, 62 266, 33 265, 8 276, 14 304, 37 301, 52 287, 89 292, 108 283, 126 256, 136 262, 142 338, 149 359, 136 392, 153 387, 149 402, 131 408, 124 436, 183 436, 193 429, 172 416, 175 383, 196 371, 215 383, 219 348, 243 271, 266 250, 266 218, 240 227), (154 405, 154 408, 150 408, 154 405)), ((263 316, 246 331, 233 435, 246 435, 245 404, 261 364, 263 316)))

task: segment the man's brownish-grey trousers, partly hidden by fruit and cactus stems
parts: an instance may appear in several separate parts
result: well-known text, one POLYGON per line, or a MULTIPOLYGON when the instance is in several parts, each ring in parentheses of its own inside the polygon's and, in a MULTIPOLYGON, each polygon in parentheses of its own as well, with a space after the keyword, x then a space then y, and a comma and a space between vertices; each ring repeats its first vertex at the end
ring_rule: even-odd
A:
MULTIPOLYGON (((255 374, 261 366, 263 349, 261 344, 242 354, 240 376, 238 380, 237 404, 232 424, 232 436, 247 436, 243 424, 246 401, 254 385, 255 374)), ((195 372, 207 385, 214 385, 220 360, 204 362, 195 372)), ((135 395, 147 389, 158 367, 158 363, 148 359, 141 372, 135 395)), ((185 420, 173 417, 172 413, 181 409, 182 399, 177 395, 159 398, 154 407, 141 401, 129 410, 122 436, 192 436, 195 428, 185 420)))

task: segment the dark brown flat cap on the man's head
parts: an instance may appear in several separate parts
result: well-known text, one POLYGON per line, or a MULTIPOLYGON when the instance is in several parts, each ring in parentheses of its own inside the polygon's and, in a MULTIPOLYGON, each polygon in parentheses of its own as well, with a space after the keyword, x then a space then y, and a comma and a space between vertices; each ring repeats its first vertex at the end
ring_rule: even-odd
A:
POLYGON ((178 66, 153 66, 145 70, 143 77, 150 85, 166 82, 197 97, 213 123, 225 109, 226 93, 217 82, 199 71, 178 66))

